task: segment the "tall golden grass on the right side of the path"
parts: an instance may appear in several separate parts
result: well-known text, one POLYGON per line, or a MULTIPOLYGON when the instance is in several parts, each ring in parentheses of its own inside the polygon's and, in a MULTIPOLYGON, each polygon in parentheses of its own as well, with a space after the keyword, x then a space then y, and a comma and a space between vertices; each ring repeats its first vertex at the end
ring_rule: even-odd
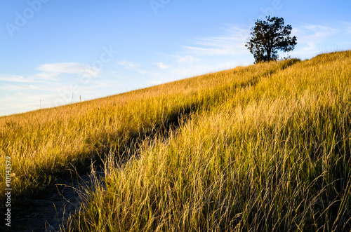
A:
POLYGON ((221 90, 122 170, 107 163, 107 189, 70 229, 350 231, 350 55, 221 90))

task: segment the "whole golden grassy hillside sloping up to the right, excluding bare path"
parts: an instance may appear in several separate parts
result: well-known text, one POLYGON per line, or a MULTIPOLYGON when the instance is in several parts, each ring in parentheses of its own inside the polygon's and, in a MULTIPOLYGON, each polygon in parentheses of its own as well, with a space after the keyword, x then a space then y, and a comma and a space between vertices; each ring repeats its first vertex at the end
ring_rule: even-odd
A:
POLYGON ((17 198, 102 159, 106 186, 68 230, 349 231, 350 64, 256 64, 1 117, 0 156, 17 198))

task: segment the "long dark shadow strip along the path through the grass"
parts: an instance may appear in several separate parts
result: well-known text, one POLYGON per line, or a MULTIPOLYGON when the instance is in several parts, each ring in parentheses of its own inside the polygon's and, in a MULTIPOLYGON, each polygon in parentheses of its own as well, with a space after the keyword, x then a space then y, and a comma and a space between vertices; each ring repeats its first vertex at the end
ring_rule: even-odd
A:
MULTIPOLYGON (((86 143, 91 145, 93 149, 90 149, 86 153, 80 153, 79 158, 76 158, 75 161, 70 162, 69 165, 62 165, 56 168, 56 171, 54 172, 52 170, 40 170, 37 172, 39 175, 32 179, 32 186, 27 186, 26 191, 22 191, 20 194, 13 196, 13 205, 15 205, 15 207, 12 208, 12 230, 25 231, 24 228, 29 226, 28 222, 34 221, 34 224, 41 224, 43 226, 41 228, 40 226, 35 226, 38 231, 43 231, 45 229, 50 231, 50 228, 45 227, 47 220, 43 216, 46 216, 45 214, 47 214, 48 217, 51 217, 52 215, 50 214, 58 214, 57 211, 53 211, 52 207, 48 207, 48 205, 55 207, 55 199, 63 200, 61 197, 63 190, 60 188, 62 186, 69 186, 67 183, 74 182, 74 179, 86 179, 92 170, 98 170, 98 172, 104 173, 103 162, 105 161, 105 158, 107 158, 107 154, 111 151, 113 152, 115 162, 122 166, 124 162, 131 158, 127 154, 131 153, 135 156, 141 142, 145 139, 152 140, 156 136, 166 139, 170 130, 176 130, 180 127, 180 121, 186 122, 191 114, 194 114, 197 111, 206 111, 211 109, 212 105, 224 102, 226 99, 223 97, 223 93, 231 93, 233 90, 254 87, 263 77, 270 76, 277 71, 286 69, 287 67, 296 64, 298 61, 299 60, 288 60, 282 62, 279 67, 268 69, 264 71, 263 74, 260 74, 260 76, 253 76, 249 81, 236 83, 234 86, 223 86, 223 88, 218 88, 216 91, 206 95, 201 100, 174 109, 173 112, 168 114, 163 121, 153 123, 152 125, 146 125, 138 130, 130 130, 127 133, 117 132, 110 135, 97 135, 95 140, 86 141, 86 143), (114 138, 116 140, 122 137, 124 140, 119 146, 112 146, 109 142, 104 142, 104 139, 101 139, 104 137, 114 138)), ((102 177, 103 175, 100 175, 100 180, 102 177)), ((28 178, 30 179, 31 177, 28 178)), ((73 184, 72 188, 75 188, 77 183, 73 184)), ((77 198, 75 193, 68 193, 68 195, 72 195, 72 198, 77 198)), ((63 205, 64 204, 60 205, 60 208, 62 208, 63 205)), ((1 207, 1 211, 3 210, 5 210, 4 206, 1 207)), ((57 209, 55 208, 55 210, 57 209)), ((74 212, 75 208, 67 210, 74 212)), ((56 226, 53 228, 58 229, 57 226, 62 225, 62 221, 61 223, 56 221, 55 225, 56 226)), ((32 231, 32 229, 29 231, 32 231)))

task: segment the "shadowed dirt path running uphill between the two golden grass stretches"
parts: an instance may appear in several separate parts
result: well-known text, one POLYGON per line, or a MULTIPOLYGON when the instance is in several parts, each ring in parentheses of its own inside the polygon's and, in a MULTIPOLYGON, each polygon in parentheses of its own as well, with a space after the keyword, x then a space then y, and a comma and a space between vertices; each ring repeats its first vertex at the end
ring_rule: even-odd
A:
MULTIPOLYGON (((191 109, 188 109, 190 114, 191 109)), ((154 128, 149 134, 145 134, 143 139, 152 139, 154 136, 159 135, 160 137, 168 137, 168 131, 171 128, 174 130, 179 126, 180 118, 174 117, 173 121, 169 121, 164 125, 159 125, 159 128, 154 128)), ((134 149, 134 152, 138 149, 137 142, 131 142, 128 147, 134 149)), ((127 151, 128 149, 126 149, 127 151)), ((128 151, 130 152, 130 151, 128 151)), ((112 153, 111 160, 114 164, 119 163, 118 167, 121 168, 123 163, 128 161, 131 157, 138 157, 138 153, 131 153, 128 156, 121 158, 117 163, 114 161, 115 154, 112 153)), ((81 203, 86 198, 86 189, 93 191, 96 186, 102 186, 105 188, 105 182, 102 177, 105 177, 105 172, 98 166, 94 166, 97 169, 95 172, 95 179, 91 178, 91 175, 85 174, 78 177, 71 177, 66 179, 59 179, 55 184, 56 189, 46 191, 40 194, 36 198, 26 199, 25 205, 18 205, 17 214, 13 214, 13 227, 11 231, 60 231, 65 222, 69 218, 69 215, 79 212, 81 203)), ((74 175, 75 176, 75 175, 74 175)), ((1 228, 0 228, 1 230, 1 228)))

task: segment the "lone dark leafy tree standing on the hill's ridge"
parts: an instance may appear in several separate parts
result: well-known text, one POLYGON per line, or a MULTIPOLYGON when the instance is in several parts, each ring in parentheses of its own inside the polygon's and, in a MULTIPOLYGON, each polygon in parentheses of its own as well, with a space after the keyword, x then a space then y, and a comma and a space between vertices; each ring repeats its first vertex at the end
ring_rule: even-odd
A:
POLYGON ((251 29, 251 39, 245 44, 256 63, 278 59, 278 50, 289 52, 296 46, 296 36, 292 38, 291 25, 284 26, 284 19, 266 16, 266 21, 257 20, 251 29))

